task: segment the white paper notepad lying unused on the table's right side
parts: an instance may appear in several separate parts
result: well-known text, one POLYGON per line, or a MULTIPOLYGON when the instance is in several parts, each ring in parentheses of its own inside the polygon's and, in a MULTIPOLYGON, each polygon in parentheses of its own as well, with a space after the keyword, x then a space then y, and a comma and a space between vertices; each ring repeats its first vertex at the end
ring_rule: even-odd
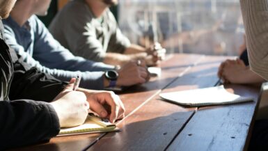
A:
POLYGON ((160 97, 166 101, 185 106, 209 106, 253 101, 252 97, 242 97, 229 93, 222 85, 173 93, 161 93, 160 97))

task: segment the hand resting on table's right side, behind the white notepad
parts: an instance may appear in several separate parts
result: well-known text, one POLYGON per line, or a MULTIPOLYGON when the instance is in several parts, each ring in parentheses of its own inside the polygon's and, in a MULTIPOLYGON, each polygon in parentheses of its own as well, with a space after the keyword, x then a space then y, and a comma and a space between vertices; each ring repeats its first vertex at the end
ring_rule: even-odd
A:
POLYGON ((221 63, 219 67, 218 76, 223 80, 224 83, 241 84, 244 83, 244 75, 248 67, 240 59, 227 60, 221 63))

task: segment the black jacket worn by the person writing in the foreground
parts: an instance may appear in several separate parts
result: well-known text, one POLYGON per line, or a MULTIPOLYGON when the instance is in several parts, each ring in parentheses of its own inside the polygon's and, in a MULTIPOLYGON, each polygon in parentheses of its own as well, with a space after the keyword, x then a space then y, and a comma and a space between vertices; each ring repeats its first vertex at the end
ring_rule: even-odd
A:
POLYGON ((65 83, 29 68, 3 40, 0 21, 0 150, 47 141, 59 132, 51 102, 65 83))

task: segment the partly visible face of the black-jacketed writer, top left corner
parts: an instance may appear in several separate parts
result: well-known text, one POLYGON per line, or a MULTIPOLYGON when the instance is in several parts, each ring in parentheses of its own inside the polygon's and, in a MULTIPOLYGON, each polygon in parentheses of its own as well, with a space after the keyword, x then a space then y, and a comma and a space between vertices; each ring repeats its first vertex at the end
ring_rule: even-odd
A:
POLYGON ((0 0, 0 16, 2 18, 8 17, 16 0, 0 0))

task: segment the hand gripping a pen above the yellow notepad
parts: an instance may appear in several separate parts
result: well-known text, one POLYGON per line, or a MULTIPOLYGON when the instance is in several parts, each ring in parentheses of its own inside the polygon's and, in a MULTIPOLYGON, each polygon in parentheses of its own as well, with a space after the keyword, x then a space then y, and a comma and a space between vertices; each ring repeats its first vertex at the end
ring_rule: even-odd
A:
POLYGON ((84 93, 74 91, 75 79, 59 93, 54 102, 50 103, 54 107, 61 127, 74 127, 85 122, 88 116, 89 104, 84 93))

